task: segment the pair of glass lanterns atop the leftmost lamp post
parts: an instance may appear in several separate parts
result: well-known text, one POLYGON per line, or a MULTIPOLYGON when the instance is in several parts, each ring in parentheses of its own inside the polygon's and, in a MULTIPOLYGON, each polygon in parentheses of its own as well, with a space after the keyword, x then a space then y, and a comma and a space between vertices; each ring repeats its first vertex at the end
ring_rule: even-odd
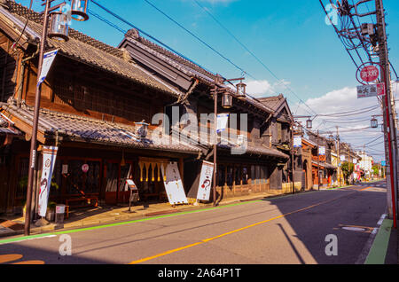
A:
MULTIPOLYGON (((71 0, 71 17, 73 20, 89 20, 87 7, 90 0, 71 0)), ((68 15, 62 11, 51 12, 49 37, 59 40, 68 40, 68 15)))

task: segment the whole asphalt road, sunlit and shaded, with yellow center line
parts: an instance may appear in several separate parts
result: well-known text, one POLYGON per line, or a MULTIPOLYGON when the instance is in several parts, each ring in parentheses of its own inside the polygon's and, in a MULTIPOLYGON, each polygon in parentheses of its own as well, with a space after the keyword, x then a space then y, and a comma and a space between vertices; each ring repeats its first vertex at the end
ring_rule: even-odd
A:
POLYGON ((12 243, 0 240, 0 262, 362 263, 386 202, 383 182, 304 192, 12 243))

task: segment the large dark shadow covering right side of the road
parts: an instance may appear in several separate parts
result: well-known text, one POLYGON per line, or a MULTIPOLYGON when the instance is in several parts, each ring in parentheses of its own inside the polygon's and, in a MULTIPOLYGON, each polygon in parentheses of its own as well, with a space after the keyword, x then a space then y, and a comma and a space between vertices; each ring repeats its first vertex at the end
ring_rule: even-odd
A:
POLYGON ((263 200, 285 215, 283 221, 272 221, 270 224, 278 225, 281 236, 286 238, 298 261, 305 263, 293 243, 299 239, 320 264, 354 264, 387 206, 386 192, 354 188, 263 200), (291 237, 287 229, 293 230, 291 237), (326 255, 329 253, 326 252, 330 243, 328 235, 337 238, 337 255, 326 255))

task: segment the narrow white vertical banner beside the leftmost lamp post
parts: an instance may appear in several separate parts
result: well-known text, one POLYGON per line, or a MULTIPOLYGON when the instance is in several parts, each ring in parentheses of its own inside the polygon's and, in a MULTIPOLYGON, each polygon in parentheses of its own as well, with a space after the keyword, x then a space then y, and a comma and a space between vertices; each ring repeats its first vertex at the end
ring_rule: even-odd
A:
POLYGON ((40 216, 46 216, 47 203, 49 201, 51 177, 57 158, 58 147, 44 146, 43 147, 43 169, 42 178, 40 180, 38 213, 40 216))

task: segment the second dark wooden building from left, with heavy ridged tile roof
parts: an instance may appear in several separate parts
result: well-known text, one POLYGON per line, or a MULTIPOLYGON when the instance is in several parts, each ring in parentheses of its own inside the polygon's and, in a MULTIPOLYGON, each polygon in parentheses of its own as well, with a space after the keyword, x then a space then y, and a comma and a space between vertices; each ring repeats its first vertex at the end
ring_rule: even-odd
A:
MULTIPOLYGON (((270 124, 274 124, 275 111, 266 103, 247 96, 245 99, 236 98, 236 92, 223 85, 226 78, 219 74, 209 73, 204 68, 192 63, 171 51, 161 48, 141 36, 136 29, 130 29, 119 45, 129 51, 137 64, 151 71, 170 87, 186 93, 173 106, 178 106, 179 113, 194 114, 198 121, 198 132, 206 131, 212 136, 212 127, 208 121, 201 121, 201 115, 212 117, 214 100, 211 90, 215 86, 228 91, 232 98, 232 106, 225 109, 222 106, 223 95, 218 95, 218 113, 238 114, 237 126, 227 129, 229 136, 242 136, 247 141, 246 153, 231 154, 236 140, 229 140, 223 144, 218 139, 218 167, 217 167, 217 194, 218 198, 262 192, 269 189, 282 188, 282 167, 289 159, 289 155, 279 151, 271 142, 272 132, 270 124), (194 84, 195 83, 195 84, 194 84), (247 114, 246 128, 239 124, 239 114, 247 114)), ((167 113, 172 110, 167 109, 167 113)), ((170 117, 173 120, 173 117, 170 117)), ((172 127, 174 123, 172 122, 172 127)), ((197 141, 197 140, 194 140, 197 141)), ((204 160, 213 160, 211 139, 201 140, 200 145, 207 148, 208 153, 204 160)), ((186 163, 191 171, 200 171, 202 160, 186 163)), ((189 197, 194 197, 198 188, 199 173, 185 177, 185 186, 192 187, 189 197)))

